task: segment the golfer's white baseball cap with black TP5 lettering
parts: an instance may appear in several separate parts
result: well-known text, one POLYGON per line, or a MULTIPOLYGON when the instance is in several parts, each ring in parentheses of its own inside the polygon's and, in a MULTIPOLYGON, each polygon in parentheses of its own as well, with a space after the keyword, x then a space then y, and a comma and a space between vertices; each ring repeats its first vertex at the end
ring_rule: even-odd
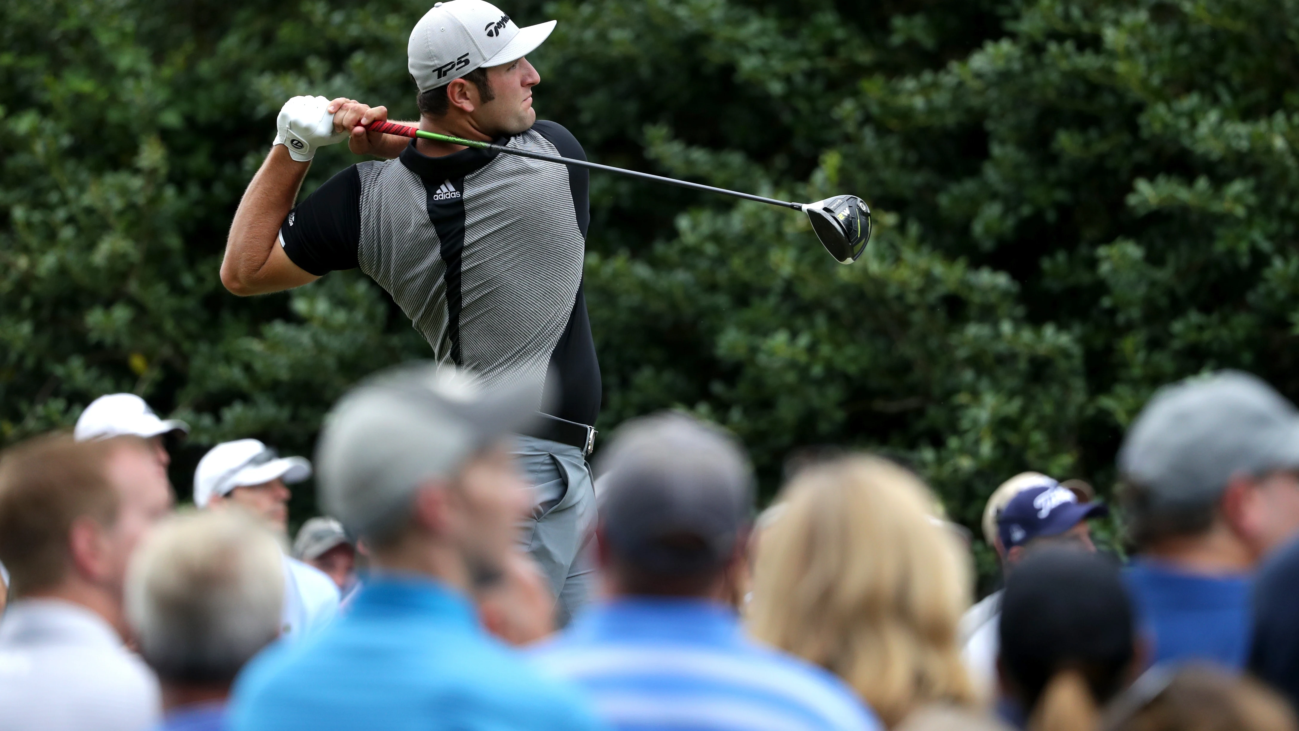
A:
POLYGON ((551 35, 555 23, 521 29, 486 0, 434 3, 410 31, 407 68, 423 93, 481 66, 499 66, 527 56, 551 35))

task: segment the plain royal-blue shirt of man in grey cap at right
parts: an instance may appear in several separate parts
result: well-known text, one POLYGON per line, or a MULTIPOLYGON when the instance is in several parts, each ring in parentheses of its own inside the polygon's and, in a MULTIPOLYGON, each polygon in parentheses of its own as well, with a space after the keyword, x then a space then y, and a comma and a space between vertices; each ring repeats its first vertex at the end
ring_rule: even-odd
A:
POLYGON ((1152 663, 1215 662, 1241 670, 1250 652, 1250 576, 1205 576, 1135 560, 1124 571, 1152 663))

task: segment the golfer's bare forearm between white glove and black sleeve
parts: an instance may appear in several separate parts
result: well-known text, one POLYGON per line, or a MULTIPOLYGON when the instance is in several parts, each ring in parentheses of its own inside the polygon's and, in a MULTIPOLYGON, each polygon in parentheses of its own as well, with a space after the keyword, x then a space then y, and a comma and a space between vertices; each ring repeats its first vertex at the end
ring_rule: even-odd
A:
POLYGON ((221 262, 221 283, 235 295, 260 295, 295 287, 303 282, 282 282, 269 270, 279 225, 294 208, 297 190, 310 162, 297 162, 284 145, 271 148, 261 169, 244 191, 235 219, 230 223, 226 256, 221 262))

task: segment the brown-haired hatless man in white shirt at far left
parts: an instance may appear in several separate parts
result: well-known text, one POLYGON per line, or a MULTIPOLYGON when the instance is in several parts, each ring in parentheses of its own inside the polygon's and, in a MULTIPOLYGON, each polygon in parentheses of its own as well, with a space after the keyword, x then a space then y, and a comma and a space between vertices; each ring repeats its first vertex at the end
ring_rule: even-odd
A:
POLYGON ((139 731, 157 680, 122 647, 122 583, 136 544, 171 509, 153 447, 136 436, 31 439, 0 453, 0 727, 139 731))

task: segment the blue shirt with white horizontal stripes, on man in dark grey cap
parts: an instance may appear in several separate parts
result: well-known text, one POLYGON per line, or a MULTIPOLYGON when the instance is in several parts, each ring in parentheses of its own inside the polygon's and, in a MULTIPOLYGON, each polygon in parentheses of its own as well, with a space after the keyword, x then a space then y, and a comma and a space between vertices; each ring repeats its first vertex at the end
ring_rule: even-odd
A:
POLYGON ((748 640, 735 613, 711 601, 592 606, 534 657, 621 731, 881 728, 842 680, 748 640))

